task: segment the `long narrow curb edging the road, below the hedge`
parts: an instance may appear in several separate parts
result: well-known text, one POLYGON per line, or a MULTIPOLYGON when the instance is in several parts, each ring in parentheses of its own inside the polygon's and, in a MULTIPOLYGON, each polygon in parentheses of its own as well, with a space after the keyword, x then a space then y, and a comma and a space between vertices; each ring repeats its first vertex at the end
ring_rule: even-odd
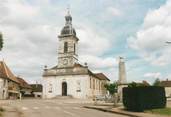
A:
POLYGON ((96 108, 96 107, 90 107, 90 106, 84 106, 84 108, 95 109, 95 110, 99 110, 99 111, 103 111, 103 112, 115 113, 115 114, 120 114, 120 115, 126 115, 126 116, 130 116, 130 117, 141 117, 141 116, 137 116, 134 114, 123 113, 123 112, 118 112, 118 111, 103 109, 103 108, 96 108))

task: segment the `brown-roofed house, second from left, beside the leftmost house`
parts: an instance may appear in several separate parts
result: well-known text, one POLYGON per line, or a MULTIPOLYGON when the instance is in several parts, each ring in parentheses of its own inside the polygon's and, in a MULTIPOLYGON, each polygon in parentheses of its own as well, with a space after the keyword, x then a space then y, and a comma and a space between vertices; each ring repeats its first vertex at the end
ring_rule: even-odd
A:
POLYGON ((32 87, 23 79, 20 77, 17 77, 19 83, 20 83, 20 93, 22 94, 22 97, 31 95, 32 93, 32 87))

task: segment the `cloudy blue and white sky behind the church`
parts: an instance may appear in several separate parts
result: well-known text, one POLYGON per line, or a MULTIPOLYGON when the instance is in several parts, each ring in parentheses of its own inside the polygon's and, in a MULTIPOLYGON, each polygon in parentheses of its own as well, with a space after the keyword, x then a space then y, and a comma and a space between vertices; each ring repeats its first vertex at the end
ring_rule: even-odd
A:
POLYGON ((116 81, 122 56, 128 82, 171 80, 171 0, 0 0, 0 58, 16 76, 41 83, 57 64, 68 5, 80 63, 116 81))

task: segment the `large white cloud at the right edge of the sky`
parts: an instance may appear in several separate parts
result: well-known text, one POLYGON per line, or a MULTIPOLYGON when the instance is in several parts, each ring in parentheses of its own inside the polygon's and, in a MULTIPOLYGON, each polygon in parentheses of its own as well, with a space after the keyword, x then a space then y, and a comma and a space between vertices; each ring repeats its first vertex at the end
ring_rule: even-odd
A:
POLYGON ((150 10, 135 37, 129 37, 129 47, 137 50, 146 61, 164 66, 171 63, 171 0, 159 9, 150 10))

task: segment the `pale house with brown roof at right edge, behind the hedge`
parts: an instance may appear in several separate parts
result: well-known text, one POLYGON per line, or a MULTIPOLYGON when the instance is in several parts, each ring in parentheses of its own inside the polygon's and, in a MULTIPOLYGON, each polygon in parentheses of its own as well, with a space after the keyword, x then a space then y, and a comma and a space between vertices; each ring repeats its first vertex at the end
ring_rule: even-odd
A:
POLYGON ((171 98, 171 80, 161 81, 160 86, 165 87, 166 97, 171 98))

